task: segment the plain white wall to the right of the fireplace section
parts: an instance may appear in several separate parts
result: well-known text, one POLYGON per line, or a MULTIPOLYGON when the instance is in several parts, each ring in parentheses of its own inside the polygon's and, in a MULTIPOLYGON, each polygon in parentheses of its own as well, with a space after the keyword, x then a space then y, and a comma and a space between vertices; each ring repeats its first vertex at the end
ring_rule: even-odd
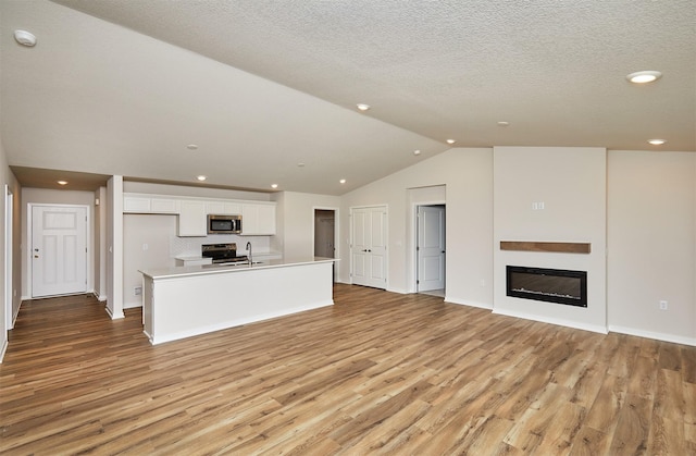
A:
POLYGON ((610 330, 696 345, 696 152, 610 151, 608 181, 610 330))

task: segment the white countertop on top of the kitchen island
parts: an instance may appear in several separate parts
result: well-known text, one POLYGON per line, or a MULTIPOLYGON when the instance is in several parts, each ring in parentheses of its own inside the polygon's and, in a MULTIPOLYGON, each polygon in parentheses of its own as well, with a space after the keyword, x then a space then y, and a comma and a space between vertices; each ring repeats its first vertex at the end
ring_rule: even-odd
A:
POLYGON ((266 260, 254 261, 252 266, 248 263, 241 264, 199 264, 199 266, 179 266, 161 269, 139 270, 144 275, 157 279, 175 279, 184 278, 188 275, 202 275, 202 274, 222 274, 229 272, 244 272, 244 271, 258 271, 261 269, 272 268, 288 268, 301 264, 313 264, 320 262, 338 261, 337 258, 323 258, 323 257, 306 257, 295 259, 282 259, 282 260, 266 260))

